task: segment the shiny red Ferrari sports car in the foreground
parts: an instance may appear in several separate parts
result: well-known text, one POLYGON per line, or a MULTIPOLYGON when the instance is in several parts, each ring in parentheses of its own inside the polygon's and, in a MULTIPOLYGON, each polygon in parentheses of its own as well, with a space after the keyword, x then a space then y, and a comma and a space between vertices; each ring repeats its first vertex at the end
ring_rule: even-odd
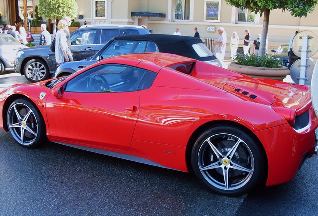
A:
POLYGON ((253 79, 186 57, 129 54, 0 93, 0 127, 24 147, 49 141, 189 172, 233 196, 293 178, 316 153, 307 86, 253 79))

